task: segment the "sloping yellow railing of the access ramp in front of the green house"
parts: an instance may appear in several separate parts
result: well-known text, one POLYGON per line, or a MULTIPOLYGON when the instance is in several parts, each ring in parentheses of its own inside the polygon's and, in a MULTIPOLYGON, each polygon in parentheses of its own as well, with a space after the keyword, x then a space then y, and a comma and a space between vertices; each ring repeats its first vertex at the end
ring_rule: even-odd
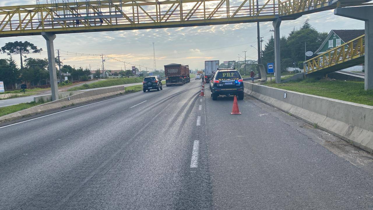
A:
POLYGON ((323 70, 345 61, 359 58, 365 54, 365 35, 361 35, 341 46, 335 47, 328 52, 304 62, 304 74, 323 70))

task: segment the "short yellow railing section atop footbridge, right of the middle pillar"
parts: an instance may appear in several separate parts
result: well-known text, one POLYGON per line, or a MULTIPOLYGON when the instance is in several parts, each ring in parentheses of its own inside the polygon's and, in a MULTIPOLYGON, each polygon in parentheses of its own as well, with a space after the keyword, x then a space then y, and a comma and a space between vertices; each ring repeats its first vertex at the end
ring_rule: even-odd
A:
POLYGON ((279 0, 279 15, 289 15, 311 8, 316 9, 319 7, 326 6, 333 0, 279 0))

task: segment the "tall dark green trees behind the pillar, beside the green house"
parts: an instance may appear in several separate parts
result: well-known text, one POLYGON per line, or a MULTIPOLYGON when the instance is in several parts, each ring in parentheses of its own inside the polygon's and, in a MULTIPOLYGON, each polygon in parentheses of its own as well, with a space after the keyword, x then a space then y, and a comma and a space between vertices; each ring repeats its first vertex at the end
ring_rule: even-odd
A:
MULTIPOLYGON (((291 31, 288 37, 283 36, 280 39, 281 53, 281 71, 286 71, 287 67, 299 67, 303 69, 304 51, 315 52, 322 43, 328 33, 319 32, 311 26, 309 21, 305 21, 304 25, 296 30, 291 31)), ((262 52, 262 63, 273 63, 275 61, 275 39, 273 36, 267 41, 262 52)), ((311 57, 307 57, 310 59, 311 57)))

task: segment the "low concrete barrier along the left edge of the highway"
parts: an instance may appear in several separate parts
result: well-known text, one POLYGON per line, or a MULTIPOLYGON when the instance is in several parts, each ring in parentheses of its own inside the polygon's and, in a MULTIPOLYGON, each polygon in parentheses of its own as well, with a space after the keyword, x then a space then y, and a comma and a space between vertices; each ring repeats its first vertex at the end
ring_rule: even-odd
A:
POLYGON ((0 117, 0 122, 4 120, 13 120, 13 119, 25 117, 28 115, 46 112, 46 111, 62 108, 62 107, 73 105, 73 104, 81 104, 81 103, 86 103, 86 102, 90 102, 93 100, 108 98, 110 96, 120 94, 120 93, 125 93, 123 86, 88 90, 88 91, 77 93, 71 96, 70 94, 68 94, 68 96, 66 96, 65 98, 62 98, 56 101, 48 102, 48 103, 41 104, 38 106, 33 106, 28 109, 23 109, 18 112, 4 115, 0 117))

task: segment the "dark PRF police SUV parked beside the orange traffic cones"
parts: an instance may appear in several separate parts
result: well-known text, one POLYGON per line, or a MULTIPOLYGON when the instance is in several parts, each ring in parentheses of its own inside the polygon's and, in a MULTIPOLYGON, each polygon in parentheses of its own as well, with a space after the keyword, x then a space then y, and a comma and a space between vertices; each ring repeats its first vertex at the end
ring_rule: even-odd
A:
POLYGON ((236 95, 239 100, 244 99, 244 80, 234 69, 218 69, 210 81, 210 89, 213 100, 219 95, 236 95))

